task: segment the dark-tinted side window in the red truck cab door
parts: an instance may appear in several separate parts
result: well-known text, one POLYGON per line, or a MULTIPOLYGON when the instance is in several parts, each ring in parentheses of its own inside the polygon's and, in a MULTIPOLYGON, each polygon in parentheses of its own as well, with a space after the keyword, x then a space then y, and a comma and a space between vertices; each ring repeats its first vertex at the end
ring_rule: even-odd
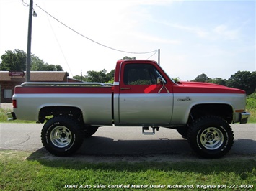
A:
POLYGON ((125 65, 123 80, 125 85, 156 84, 157 77, 161 77, 153 65, 128 64, 125 65))

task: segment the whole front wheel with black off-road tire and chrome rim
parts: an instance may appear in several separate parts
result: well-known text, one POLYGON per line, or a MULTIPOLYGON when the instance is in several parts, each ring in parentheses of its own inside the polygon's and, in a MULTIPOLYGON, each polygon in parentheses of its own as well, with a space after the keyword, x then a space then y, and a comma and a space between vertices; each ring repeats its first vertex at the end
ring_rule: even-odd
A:
POLYGON ((229 124, 219 116, 204 116, 190 126, 187 139, 191 148, 200 157, 223 157, 234 142, 229 124))

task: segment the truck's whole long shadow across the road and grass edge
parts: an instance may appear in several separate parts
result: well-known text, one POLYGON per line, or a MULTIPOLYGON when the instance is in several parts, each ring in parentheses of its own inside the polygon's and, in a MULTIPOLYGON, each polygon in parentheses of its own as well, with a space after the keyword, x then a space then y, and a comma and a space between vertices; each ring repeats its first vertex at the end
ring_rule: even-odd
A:
POLYGON ((186 139, 114 140, 102 136, 84 139, 81 148, 70 157, 56 157, 44 148, 32 152, 28 160, 67 160, 77 162, 207 162, 256 159, 256 141, 236 139, 231 151, 221 159, 201 159, 190 149, 186 139))

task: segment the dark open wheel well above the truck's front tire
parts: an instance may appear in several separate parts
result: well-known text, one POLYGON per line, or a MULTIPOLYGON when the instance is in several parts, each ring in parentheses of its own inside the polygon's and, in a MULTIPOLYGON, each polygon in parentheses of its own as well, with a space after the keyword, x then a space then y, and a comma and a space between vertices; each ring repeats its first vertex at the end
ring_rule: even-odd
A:
POLYGON ((200 118, 202 116, 220 116, 221 118, 224 118, 225 121, 227 121, 228 124, 231 124, 233 121, 233 108, 229 106, 228 104, 199 104, 196 106, 193 106, 193 108, 190 111, 190 118, 189 122, 195 121, 197 118, 200 118))

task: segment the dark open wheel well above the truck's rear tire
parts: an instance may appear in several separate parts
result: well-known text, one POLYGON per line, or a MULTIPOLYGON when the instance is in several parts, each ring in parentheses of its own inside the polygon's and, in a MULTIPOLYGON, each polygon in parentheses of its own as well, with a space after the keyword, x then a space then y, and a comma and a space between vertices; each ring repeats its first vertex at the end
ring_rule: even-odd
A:
POLYGON ((40 109, 38 120, 40 123, 43 123, 46 119, 46 116, 74 116, 82 120, 82 112, 79 108, 71 106, 48 106, 40 109))

